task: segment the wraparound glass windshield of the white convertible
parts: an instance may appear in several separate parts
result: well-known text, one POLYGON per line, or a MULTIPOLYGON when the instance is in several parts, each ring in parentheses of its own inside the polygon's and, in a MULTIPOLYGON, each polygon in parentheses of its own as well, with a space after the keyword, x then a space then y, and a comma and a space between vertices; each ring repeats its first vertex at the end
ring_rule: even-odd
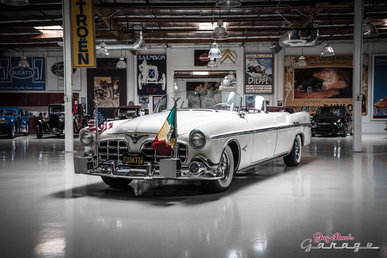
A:
POLYGON ((177 100, 177 109, 223 110, 238 113, 241 96, 228 91, 184 91, 168 93, 161 97, 153 113, 171 110, 177 100))

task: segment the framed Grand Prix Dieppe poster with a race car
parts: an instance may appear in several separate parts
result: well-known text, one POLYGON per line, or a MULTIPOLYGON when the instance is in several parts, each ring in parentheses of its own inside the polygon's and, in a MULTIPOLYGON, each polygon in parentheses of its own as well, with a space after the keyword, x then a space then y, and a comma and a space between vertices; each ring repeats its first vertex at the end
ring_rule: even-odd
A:
POLYGON ((272 54, 246 54, 245 93, 272 93, 272 54))

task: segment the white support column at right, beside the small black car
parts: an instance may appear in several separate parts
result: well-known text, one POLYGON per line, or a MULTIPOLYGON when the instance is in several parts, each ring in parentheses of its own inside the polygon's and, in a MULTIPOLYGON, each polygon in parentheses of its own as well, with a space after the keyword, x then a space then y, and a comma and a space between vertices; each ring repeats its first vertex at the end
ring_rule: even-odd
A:
POLYGON ((363 0, 355 0, 353 29, 353 151, 361 152, 361 67, 363 44, 363 0))

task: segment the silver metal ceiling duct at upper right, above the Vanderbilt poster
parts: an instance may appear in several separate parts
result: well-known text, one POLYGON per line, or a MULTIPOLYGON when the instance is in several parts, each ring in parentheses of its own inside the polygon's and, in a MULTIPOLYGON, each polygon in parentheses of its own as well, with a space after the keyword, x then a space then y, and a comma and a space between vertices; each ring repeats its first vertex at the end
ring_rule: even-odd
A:
MULTIPOLYGON (((312 22, 307 28, 306 35, 302 36, 302 31, 286 31, 282 34, 278 44, 281 47, 307 47, 313 46, 318 40, 318 26, 320 22, 312 22)), ((304 33, 305 34, 305 33, 304 33)))

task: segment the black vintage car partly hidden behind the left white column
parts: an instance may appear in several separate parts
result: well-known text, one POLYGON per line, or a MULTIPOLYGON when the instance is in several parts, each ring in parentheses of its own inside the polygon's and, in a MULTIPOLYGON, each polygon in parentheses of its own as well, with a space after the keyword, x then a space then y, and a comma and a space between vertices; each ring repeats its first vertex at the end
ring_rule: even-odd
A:
MULTIPOLYGON (((83 113, 81 105, 78 105, 77 113, 73 113, 74 132, 78 133, 87 126, 88 115, 83 113)), ((64 132, 64 104, 50 104, 49 113, 44 113, 42 118, 35 120, 36 137, 42 138, 43 134, 53 134, 60 137, 64 132)))

